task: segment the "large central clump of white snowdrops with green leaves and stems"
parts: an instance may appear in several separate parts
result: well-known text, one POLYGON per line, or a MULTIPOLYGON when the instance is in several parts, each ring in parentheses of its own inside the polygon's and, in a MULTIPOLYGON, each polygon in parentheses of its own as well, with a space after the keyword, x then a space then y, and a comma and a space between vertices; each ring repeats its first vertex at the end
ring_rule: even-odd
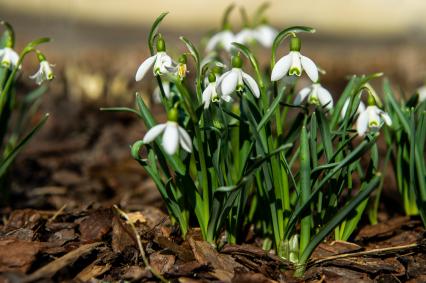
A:
MULTIPOLYGON (((319 62, 302 50, 302 38, 315 30, 278 32, 263 17, 265 7, 252 21, 243 12, 244 28, 235 34, 231 6, 205 48, 180 37, 187 51, 177 60, 158 32, 166 16, 161 14, 148 36, 151 56, 135 79, 154 75, 155 100, 167 121, 156 121, 138 93, 137 109, 105 110, 135 113, 146 125, 131 153, 152 177, 183 237, 198 226, 213 245, 223 235, 238 243, 254 229, 263 248, 293 262, 300 276, 327 236, 347 240, 356 229, 383 179, 380 129, 390 131, 395 116, 383 110, 370 85, 382 74, 351 76, 334 101, 321 84, 319 62), (269 52, 270 65, 259 65, 253 50, 269 52), (302 76, 309 85, 299 85, 302 76)), ((424 124, 424 111, 420 116, 424 124)), ((424 131, 417 134, 424 142, 424 131)))

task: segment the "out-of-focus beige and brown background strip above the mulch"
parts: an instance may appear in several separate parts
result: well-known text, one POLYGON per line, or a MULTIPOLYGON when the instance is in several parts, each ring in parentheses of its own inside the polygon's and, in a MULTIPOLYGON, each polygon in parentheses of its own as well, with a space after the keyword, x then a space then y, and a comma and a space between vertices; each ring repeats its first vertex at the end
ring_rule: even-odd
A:
MULTIPOLYGON (((266 15, 277 29, 291 25, 317 29, 316 34, 304 36, 302 52, 327 71, 323 81, 330 82, 335 91, 339 92, 345 85, 345 76, 372 72, 384 72, 407 92, 424 83, 426 1, 268 2, 266 15)), ((171 49, 177 54, 177 50, 183 50, 179 35, 198 42, 203 35, 220 27, 222 14, 230 3, 226 0, 0 0, 0 17, 15 26, 18 46, 36 37, 52 37, 54 42, 45 49, 58 67, 62 68, 65 62, 89 62, 92 69, 103 68, 105 72, 132 78, 138 64, 147 56, 149 27, 161 12, 170 12, 161 32, 167 35, 169 47, 172 44, 171 49)), ((233 3, 244 7, 250 16, 263 2, 233 3)), ((238 8, 231 18, 237 32, 242 22, 238 8)), ((262 54, 265 58, 269 56, 267 50, 262 54)))

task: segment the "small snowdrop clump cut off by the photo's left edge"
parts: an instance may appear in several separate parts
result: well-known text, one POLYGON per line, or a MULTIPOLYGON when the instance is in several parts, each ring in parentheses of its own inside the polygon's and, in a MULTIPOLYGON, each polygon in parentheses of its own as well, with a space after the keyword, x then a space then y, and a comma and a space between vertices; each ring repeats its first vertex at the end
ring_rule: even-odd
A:
POLYGON ((40 98, 47 90, 43 82, 52 80, 54 74, 45 55, 37 48, 48 42, 48 38, 28 43, 18 54, 13 27, 1 20, 0 26, 4 28, 0 39, 0 195, 6 197, 8 173, 13 161, 48 118, 48 114, 45 114, 36 125, 31 122, 40 98), (22 75, 22 65, 29 54, 35 54, 40 63, 38 71, 29 76, 39 87, 21 96, 16 94, 16 89, 22 75))

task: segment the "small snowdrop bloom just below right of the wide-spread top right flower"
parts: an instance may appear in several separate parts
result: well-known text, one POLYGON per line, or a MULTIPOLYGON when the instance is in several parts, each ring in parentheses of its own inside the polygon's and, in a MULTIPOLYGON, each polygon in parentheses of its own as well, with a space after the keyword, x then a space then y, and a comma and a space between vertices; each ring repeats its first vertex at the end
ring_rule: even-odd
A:
POLYGON ((308 98, 309 104, 321 105, 328 110, 333 108, 333 97, 330 92, 323 88, 319 83, 313 83, 312 85, 301 89, 294 99, 294 104, 300 105, 306 97, 308 98))

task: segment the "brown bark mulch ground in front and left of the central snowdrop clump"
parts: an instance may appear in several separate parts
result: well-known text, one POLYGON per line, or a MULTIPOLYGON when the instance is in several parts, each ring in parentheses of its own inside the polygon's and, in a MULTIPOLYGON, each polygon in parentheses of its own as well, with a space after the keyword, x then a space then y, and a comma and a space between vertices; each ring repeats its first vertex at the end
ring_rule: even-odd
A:
POLYGON ((67 85, 52 86, 43 105, 51 119, 17 160, 0 200, 0 282, 157 281, 114 204, 135 223, 151 268, 170 281, 426 282, 425 231, 418 218, 400 216, 391 190, 383 192, 380 224, 362 223, 352 243, 321 244, 302 279, 252 233, 218 249, 197 230, 182 240, 130 158, 142 124, 100 113, 104 102, 76 103, 67 85))

